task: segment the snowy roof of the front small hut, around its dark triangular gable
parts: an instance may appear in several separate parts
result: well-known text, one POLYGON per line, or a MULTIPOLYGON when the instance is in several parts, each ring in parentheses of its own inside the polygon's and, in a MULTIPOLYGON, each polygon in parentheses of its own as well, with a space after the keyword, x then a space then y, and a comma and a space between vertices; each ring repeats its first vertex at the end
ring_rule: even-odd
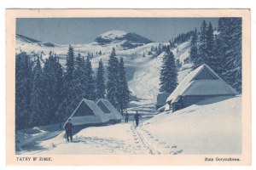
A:
MULTIPOLYGON (((102 122, 108 122, 109 118, 108 116, 103 113, 103 111, 96 105, 94 101, 91 101, 89 99, 82 99, 75 111, 73 111, 73 114, 69 116, 69 118, 72 119, 73 125, 82 125, 82 124, 94 124, 94 123, 102 123, 102 122), (80 105, 84 103, 87 105, 90 110, 93 112, 94 115, 88 115, 88 116, 74 116, 76 111, 78 111, 80 105)), ((69 119, 68 118, 68 119, 69 119)), ((67 120, 68 120, 67 119, 67 120)), ((66 124, 67 122, 65 122, 66 124)))

